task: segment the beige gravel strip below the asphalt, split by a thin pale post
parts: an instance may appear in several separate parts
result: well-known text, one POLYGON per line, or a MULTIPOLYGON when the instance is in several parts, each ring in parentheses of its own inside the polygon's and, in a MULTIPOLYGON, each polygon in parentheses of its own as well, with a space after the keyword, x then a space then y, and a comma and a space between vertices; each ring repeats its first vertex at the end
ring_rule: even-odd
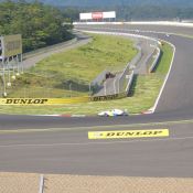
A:
MULTIPOLYGON (((37 193, 40 174, 0 173, 3 193, 37 193)), ((190 193, 193 179, 44 175, 44 193, 190 193)))

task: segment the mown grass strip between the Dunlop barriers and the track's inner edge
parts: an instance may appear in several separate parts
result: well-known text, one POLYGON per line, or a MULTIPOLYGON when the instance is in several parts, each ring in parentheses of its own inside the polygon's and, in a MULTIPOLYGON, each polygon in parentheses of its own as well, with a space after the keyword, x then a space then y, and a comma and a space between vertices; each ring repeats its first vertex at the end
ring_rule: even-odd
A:
POLYGON ((172 60, 172 47, 164 43, 161 47, 162 56, 154 73, 137 76, 135 78, 131 97, 110 100, 110 101, 95 101, 76 105, 57 105, 57 106, 21 106, 12 107, 4 106, 0 112, 7 114, 86 114, 96 115, 100 110, 112 108, 127 109, 131 114, 138 114, 149 109, 153 106, 160 88, 163 84, 165 74, 170 67, 172 60))

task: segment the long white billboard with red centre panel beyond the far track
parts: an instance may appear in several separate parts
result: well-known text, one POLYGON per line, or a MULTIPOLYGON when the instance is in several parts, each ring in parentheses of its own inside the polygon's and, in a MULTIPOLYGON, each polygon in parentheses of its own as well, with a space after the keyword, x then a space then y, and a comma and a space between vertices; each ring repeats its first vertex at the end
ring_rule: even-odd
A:
POLYGON ((89 13, 79 13, 81 21, 105 21, 116 19, 116 12, 89 12, 89 13))

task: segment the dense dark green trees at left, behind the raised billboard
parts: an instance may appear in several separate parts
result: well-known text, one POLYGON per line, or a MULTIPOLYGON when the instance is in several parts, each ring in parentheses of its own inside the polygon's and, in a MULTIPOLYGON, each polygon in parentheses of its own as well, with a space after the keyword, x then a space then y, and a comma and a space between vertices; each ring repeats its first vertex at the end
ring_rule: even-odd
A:
POLYGON ((0 35, 22 34, 24 52, 71 39, 72 25, 65 21, 68 19, 58 9, 39 1, 0 2, 0 35))

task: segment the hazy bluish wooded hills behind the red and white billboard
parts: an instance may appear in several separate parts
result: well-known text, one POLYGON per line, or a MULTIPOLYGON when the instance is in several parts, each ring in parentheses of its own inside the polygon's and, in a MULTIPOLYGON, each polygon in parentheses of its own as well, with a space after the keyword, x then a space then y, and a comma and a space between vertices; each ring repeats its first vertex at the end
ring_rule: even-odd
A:
MULTIPOLYGON (((29 0, 30 1, 30 0, 29 0)), ((32 0, 31 0, 32 1, 32 0)), ((40 0, 63 8, 74 21, 79 12, 112 11, 118 20, 193 19, 193 0, 40 0)))

